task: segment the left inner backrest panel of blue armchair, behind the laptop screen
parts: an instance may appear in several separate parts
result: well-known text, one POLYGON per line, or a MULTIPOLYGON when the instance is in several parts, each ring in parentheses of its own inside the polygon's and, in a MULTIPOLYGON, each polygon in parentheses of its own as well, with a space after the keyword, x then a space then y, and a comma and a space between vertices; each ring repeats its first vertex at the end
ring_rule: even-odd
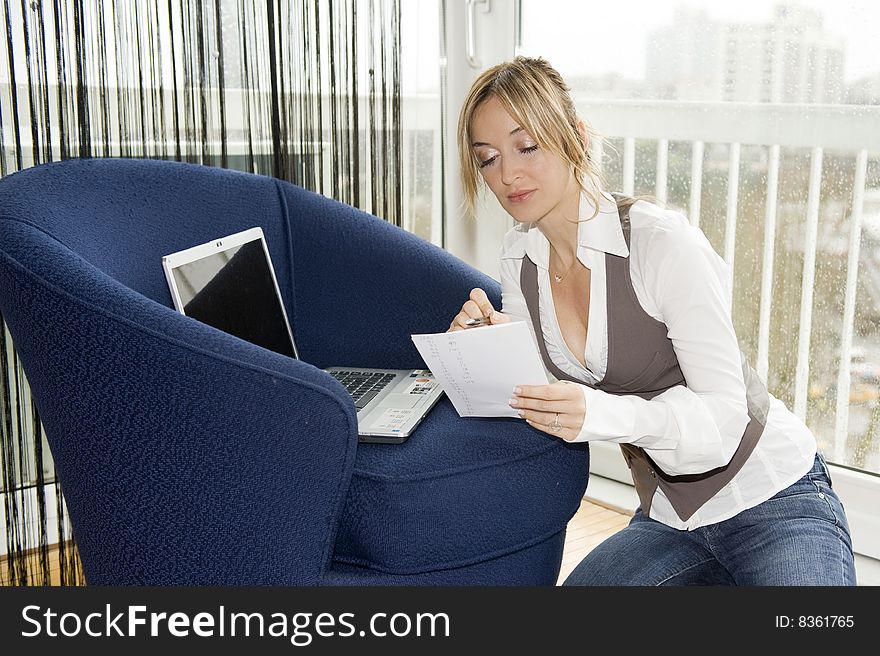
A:
POLYGON ((7 177, 4 215, 38 227, 163 305, 171 303, 157 267, 163 255, 253 225, 267 233, 279 270, 290 269, 281 198, 272 178, 136 159, 68 160, 7 177))

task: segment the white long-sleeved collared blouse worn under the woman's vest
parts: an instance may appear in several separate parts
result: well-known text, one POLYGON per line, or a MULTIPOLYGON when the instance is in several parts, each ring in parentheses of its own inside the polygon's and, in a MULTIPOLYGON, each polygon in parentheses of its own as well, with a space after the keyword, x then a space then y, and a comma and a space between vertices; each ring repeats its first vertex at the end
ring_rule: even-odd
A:
MULTIPOLYGON (((727 265, 703 232, 678 212, 636 202, 630 208, 630 249, 610 195, 602 196, 599 213, 589 219, 592 214, 593 205, 584 195, 577 255, 591 272, 587 367, 562 337, 550 289, 550 243, 533 224, 519 224, 505 235, 502 311, 513 321, 526 321, 535 336, 519 285, 522 257, 527 253, 538 267, 541 328, 550 358, 567 374, 595 384, 604 377, 608 360, 605 253, 629 255, 636 297, 645 312, 668 327, 687 387, 673 387, 647 401, 583 385, 586 418, 574 441, 635 444, 671 475, 726 464, 748 423, 742 361, 730 317, 727 265)), ((810 430, 771 395, 764 433, 733 480, 686 522, 658 488, 650 516, 680 529, 723 521, 797 481, 812 468, 815 454, 810 430)))

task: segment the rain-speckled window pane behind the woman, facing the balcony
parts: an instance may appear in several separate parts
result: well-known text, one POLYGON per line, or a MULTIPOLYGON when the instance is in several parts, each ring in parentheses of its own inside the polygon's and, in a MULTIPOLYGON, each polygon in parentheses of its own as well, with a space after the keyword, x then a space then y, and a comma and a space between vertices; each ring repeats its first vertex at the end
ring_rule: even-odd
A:
POLYGON ((869 2, 523 0, 519 46, 606 136, 609 184, 681 209, 732 266, 737 334, 771 392, 829 461, 874 473, 877 20, 869 2))

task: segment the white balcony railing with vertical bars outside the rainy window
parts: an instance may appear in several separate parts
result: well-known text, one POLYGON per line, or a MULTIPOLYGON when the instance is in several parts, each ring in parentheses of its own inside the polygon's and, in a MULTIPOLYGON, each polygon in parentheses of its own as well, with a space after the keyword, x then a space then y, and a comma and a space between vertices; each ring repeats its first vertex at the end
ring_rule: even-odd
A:
MULTIPOLYGON (((772 321, 772 285, 774 254, 777 247, 777 193, 781 148, 804 148, 810 152, 809 192, 803 223, 803 275, 800 290, 800 317, 797 335, 797 366, 793 410, 806 420, 810 380, 810 338, 815 290, 816 251, 823 188, 822 164, 826 152, 849 154, 854 160, 854 180, 849 190, 851 213, 847 247, 844 310, 841 318, 837 390, 849 390, 853 356, 853 321, 856 290, 859 285, 859 259, 865 199, 866 172, 871 158, 880 155, 880 107, 850 105, 767 105, 746 103, 684 103, 645 101, 582 101, 582 116, 588 118, 606 138, 623 140, 622 181, 625 193, 634 193, 635 144, 637 140, 656 141, 655 183, 653 195, 667 200, 668 151, 672 141, 691 144, 690 197, 685 209, 691 222, 700 224, 703 190, 703 162, 706 144, 727 144, 727 207, 722 255, 733 271, 737 257, 738 200, 741 148, 745 145, 767 149, 766 203, 763 215, 764 245, 761 259, 760 318, 757 336, 757 369, 767 379, 769 369, 770 326, 772 321)), ((597 155, 603 156, 601 145, 597 155)), ((876 276, 876 269, 862 272, 876 276)), ((731 281, 736 283, 738 281, 731 281)), ((732 285, 733 286, 733 285, 732 285)), ((838 393, 831 459, 846 463, 844 453, 850 397, 838 393)), ((875 400, 876 402, 876 400, 875 400)), ((877 437, 880 439, 880 437, 877 437)), ((874 449, 880 448, 875 439, 874 449)))

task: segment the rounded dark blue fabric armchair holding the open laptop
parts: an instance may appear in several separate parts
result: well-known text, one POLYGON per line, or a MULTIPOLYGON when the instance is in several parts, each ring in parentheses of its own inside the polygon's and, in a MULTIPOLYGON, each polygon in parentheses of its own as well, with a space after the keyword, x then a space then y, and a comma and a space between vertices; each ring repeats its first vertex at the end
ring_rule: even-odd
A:
POLYGON ((92 584, 552 585, 589 451, 447 399, 358 444, 322 368, 424 366, 497 282, 295 185, 68 160, 0 180, 0 312, 92 584), (172 308, 161 256, 259 225, 301 360, 172 308))

